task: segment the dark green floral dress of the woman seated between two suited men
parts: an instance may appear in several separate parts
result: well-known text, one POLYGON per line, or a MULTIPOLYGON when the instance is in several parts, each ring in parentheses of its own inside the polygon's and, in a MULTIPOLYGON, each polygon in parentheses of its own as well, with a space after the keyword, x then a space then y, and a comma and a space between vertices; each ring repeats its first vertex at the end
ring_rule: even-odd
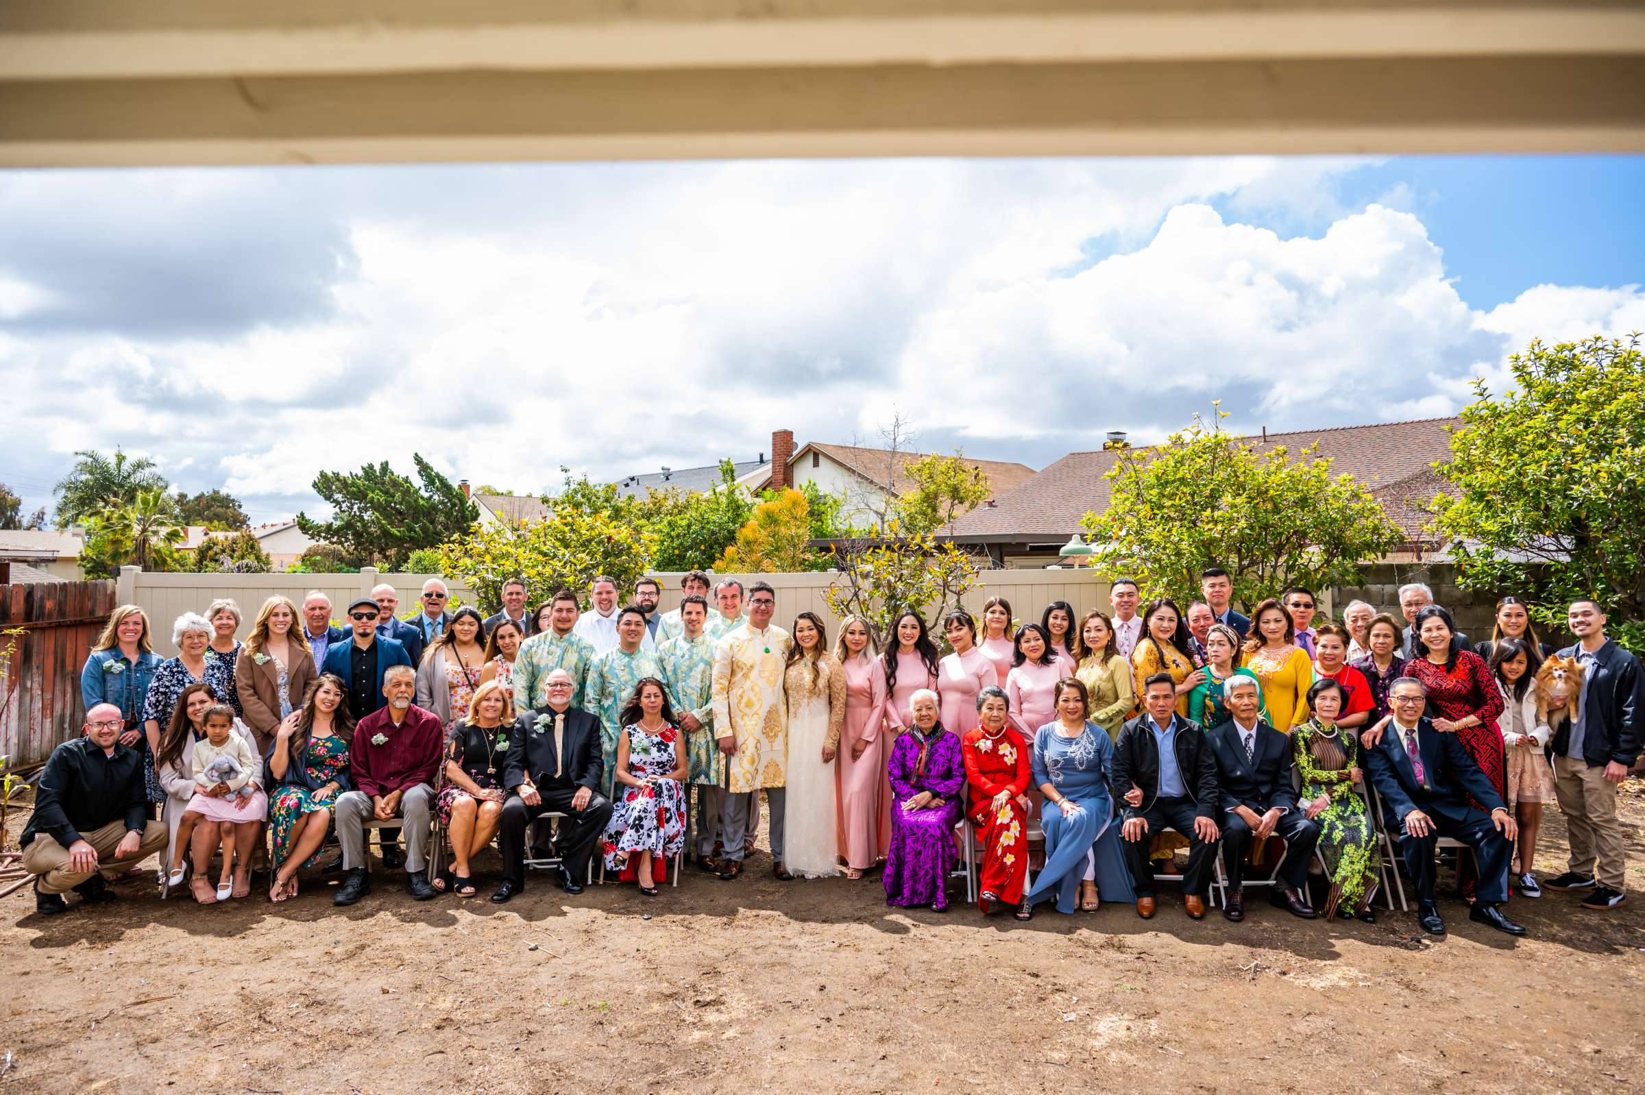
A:
POLYGON ((1360 763, 1359 740, 1334 727, 1328 732, 1309 718, 1291 730, 1296 771, 1303 778, 1298 809, 1306 809, 1321 794, 1331 804, 1314 820, 1319 822, 1319 855, 1331 875, 1331 896, 1324 914, 1337 909, 1359 912, 1370 906, 1382 878, 1382 852, 1365 811, 1365 799, 1354 786, 1352 769, 1360 763))

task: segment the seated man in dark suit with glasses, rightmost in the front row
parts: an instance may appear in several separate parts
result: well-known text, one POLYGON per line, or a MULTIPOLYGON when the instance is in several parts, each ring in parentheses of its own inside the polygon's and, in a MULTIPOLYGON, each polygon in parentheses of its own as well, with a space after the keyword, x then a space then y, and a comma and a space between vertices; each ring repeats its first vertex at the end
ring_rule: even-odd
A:
POLYGON ((1400 827, 1400 852, 1416 888, 1416 922, 1433 936, 1444 936, 1444 921, 1434 904, 1434 847, 1439 837, 1449 837, 1472 848, 1479 866, 1479 889, 1467 919, 1523 936, 1525 929, 1497 908, 1508 899, 1508 862, 1518 827, 1457 737, 1439 733, 1423 717, 1426 702, 1428 689, 1421 681, 1395 681, 1388 687, 1393 715, 1365 751, 1370 781, 1393 814, 1390 829, 1400 827), (1474 809, 1469 797, 1490 815, 1474 809))

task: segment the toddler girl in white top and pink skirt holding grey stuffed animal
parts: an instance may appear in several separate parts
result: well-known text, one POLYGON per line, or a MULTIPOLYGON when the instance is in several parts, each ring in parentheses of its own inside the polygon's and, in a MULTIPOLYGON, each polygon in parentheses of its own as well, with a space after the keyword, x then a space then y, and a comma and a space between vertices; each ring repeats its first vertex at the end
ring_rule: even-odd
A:
MULTIPOLYGON (((194 771, 194 797, 189 799, 178 825, 178 840, 171 857, 173 886, 183 881, 183 853, 189 847, 189 837, 201 820, 222 824, 222 876, 217 881, 217 899, 227 901, 234 889, 234 855, 240 835, 250 825, 253 834, 262 829, 268 814, 268 799, 263 796, 263 766, 245 745, 245 740, 234 733, 234 709, 227 704, 214 704, 206 710, 202 728, 206 737, 194 743, 189 763, 194 771)), ((250 862, 243 862, 240 870, 250 878, 250 862)), ((248 891, 248 886, 247 886, 248 891)))

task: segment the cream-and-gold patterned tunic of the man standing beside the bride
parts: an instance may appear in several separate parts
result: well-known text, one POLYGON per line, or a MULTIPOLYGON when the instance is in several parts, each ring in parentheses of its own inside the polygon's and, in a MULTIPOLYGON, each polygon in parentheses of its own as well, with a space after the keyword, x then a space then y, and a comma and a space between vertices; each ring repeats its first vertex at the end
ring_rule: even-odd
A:
POLYGON ((744 623, 714 645, 714 728, 737 740, 725 758, 730 794, 788 786, 783 668, 791 641, 783 628, 744 623))

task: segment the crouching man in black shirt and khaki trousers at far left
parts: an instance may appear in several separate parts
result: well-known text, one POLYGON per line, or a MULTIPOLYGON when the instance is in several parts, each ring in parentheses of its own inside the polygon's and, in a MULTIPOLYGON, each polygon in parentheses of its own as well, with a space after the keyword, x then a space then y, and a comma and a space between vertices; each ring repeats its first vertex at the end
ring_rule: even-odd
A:
POLYGON ((164 850, 164 822, 148 819, 143 755, 120 745, 120 709, 86 712, 82 737, 51 750, 23 827, 23 870, 35 875, 35 911, 67 912, 63 894, 81 904, 114 901, 109 880, 164 850))

